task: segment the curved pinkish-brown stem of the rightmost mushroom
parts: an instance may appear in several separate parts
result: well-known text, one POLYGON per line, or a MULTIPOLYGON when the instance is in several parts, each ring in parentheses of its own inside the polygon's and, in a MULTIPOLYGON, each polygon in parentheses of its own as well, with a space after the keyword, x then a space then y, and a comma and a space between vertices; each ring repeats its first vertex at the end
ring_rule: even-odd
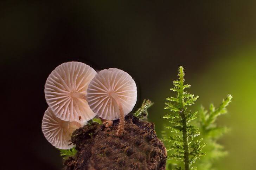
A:
POLYGON ((123 135, 123 131, 124 131, 124 113, 123 113, 123 106, 120 102, 120 98, 114 93, 114 92, 110 92, 109 95, 111 97, 113 97, 119 107, 119 113, 120 113, 120 123, 118 126, 118 130, 116 132, 117 136, 122 136, 123 135))

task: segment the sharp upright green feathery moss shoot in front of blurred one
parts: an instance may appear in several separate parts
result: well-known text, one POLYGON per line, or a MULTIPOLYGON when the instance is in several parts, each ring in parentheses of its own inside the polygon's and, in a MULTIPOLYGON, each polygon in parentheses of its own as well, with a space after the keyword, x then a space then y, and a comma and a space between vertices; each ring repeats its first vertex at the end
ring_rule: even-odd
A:
MULTIPOLYGON (((197 118, 197 112, 187 111, 187 106, 190 106, 196 102, 198 96, 184 91, 190 87, 189 84, 184 85, 184 68, 179 67, 178 80, 173 81, 174 87, 172 91, 177 92, 176 97, 168 97, 165 103, 165 109, 171 111, 168 115, 164 116, 164 119, 171 119, 169 123, 171 125, 165 126, 171 132, 176 132, 178 135, 173 135, 169 138, 164 137, 164 141, 169 142, 167 145, 168 150, 173 150, 169 154, 169 158, 177 159, 184 163, 185 170, 190 170, 192 164, 203 156, 202 148, 205 143, 201 144, 201 139, 194 140, 193 138, 199 136, 200 132, 198 127, 189 125, 189 123, 197 118)), ((195 169, 195 167, 193 167, 195 169)), ((175 169, 181 169, 175 168, 175 169)))

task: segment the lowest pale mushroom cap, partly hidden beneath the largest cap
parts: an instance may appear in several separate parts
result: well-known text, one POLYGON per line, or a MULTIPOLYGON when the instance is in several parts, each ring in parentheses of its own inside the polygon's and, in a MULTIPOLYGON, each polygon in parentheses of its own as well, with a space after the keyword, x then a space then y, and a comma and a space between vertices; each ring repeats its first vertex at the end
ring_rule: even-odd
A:
POLYGON ((78 126, 71 122, 66 122, 57 118, 50 107, 48 107, 44 113, 42 131, 48 142, 56 148, 73 148, 74 146, 72 144, 69 145, 69 140, 71 139, 72 132, 78 128, 78 126))

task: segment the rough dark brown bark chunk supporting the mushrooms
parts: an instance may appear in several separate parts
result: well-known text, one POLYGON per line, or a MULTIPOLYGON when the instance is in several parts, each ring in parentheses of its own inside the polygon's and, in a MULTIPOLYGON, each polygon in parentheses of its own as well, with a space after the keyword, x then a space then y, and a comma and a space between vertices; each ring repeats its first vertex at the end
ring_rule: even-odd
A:
POLYGON ((65 161, 66 169, 165 169, 166 148, 153 123, 127 115, 123 136, 117 137, 118 123, 114 121, 110 128, 92 123, 73 132, 71 142, 78 152, 65 161))

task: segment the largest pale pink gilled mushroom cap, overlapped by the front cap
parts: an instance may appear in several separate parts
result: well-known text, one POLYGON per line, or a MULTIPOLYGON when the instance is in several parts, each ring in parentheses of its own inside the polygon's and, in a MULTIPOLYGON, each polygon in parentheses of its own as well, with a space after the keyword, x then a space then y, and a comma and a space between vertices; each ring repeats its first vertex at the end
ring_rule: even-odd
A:
POLYGON ((52 71, 46 80, 44 92, 47 104, 58 118, 84 125, 95 117, 85 95, 96 74, 90 66, 75 61, 63 63, 52 71))

